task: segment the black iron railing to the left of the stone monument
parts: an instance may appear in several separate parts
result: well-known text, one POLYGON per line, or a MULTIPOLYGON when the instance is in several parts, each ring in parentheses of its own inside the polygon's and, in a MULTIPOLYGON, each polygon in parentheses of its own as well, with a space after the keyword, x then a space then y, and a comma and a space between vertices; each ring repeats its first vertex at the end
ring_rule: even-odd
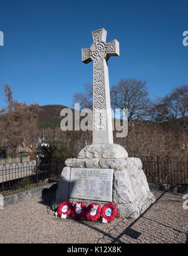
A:
POLYGON ((0 193, 18 193, 60 180, 65 159, 0 164, 0 193))

